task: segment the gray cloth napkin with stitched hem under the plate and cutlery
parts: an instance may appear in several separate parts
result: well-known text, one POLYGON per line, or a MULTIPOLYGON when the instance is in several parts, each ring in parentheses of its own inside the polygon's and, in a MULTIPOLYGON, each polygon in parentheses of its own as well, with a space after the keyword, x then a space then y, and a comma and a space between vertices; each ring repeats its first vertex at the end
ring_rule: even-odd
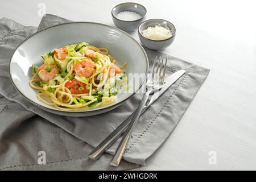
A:
MULTIPOLYGON (((70 21, 47 14, 38 30, 66 22, 70 21)), ((123 156, 126 162, 113 168, 108 164, 120 139, 100 160, 93 162, 86 156, 135 110, 142 95, 135 94, 122 106, 92 117, 47 113, 23 98, 9 77, 14 49, 36 28, 2 18, 0 30, 0 169, 131 169, 143 165, 174 130, 209 73, 209 69, 146 49, 150 64, 155 56, 164 55, 168 56, 168 74, 180 69, 187 73, 142 115, 123 156), (38 164, 39 151, 46 152, 46 165, 38 164)))

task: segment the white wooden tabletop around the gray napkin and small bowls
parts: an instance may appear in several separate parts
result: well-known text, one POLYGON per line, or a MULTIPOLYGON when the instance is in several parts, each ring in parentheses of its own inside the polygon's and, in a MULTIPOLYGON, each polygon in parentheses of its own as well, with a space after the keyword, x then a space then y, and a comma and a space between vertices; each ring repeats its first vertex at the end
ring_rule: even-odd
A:
MULTIPOLYGON (((0 18, 38 26, 40 2, 46 13, 114 26, 110 12, 124 1, 8 0, 1 1, 0 18)), ((147 19, 175 24, 175 42, 163 52, 210 68, 175 131, 141 169, 256 169, 255 3, 137 2, 147 8, 147 19)))

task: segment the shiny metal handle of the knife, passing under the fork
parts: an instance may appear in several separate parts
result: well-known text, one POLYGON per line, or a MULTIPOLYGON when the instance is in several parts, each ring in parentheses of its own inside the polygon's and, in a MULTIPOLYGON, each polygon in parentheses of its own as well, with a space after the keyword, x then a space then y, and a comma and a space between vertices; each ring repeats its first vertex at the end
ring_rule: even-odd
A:
MULTIPOLYGON (((144 106, 141 115, 147 110, 149 106, 144 106)), ((135 110, 136 111, 136 110, 135 110)), ((104 139, 100 144, 98 144, 98 146, 96 148, 94 148, 94 150, 92 152, 90 152, 89 154, 89 158, 93 159, 93 160, 97 160, 98 158, 100 158, 100 156, 106 151, 108 150, 108 148, 110 146, 112 146, 112 144, 119 138, 121 137, 121 135, 123 134, 123 132, 127 129, 127 126, 130 124, 131 122, 131 118, 133 118, 133 115, 135 113, 135 111, 129 115, 129 117, 127 117, 125 119, 125 121, 123 121, 118 127, 117 129, 115 129, 111 134, 109 134, 109 136, 104 139)))

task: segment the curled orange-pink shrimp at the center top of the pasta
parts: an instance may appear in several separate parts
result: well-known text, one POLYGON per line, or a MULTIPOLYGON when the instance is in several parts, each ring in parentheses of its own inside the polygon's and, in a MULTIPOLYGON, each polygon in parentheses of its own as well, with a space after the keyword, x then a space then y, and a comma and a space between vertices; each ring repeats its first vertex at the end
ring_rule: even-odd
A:
POLYGON ((93 75, 94 62, 90 59, 83 59, 79 63, 75 63, 73 68, 76 75, 88 78, 93 75))

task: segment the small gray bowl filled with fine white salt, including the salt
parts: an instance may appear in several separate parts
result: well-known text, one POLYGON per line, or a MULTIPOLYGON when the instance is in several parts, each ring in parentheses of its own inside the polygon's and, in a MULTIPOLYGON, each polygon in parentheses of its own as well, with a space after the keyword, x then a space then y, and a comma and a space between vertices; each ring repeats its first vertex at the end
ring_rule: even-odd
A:
POLYGON ((144 6, 138 3, 121 3, 112 9, 112 19, 118 28, 127 32, 135 31, 147 14, 144 6))

